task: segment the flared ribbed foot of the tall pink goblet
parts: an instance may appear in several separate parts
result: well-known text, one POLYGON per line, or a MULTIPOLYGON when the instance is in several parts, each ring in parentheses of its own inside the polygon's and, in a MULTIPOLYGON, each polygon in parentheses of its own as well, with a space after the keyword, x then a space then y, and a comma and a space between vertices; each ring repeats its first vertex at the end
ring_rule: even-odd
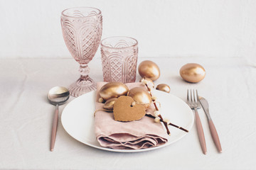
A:
POLYGON ((95 91, 96 89, 97 86, 95 81, 93 81, 90 77, 87 77, 86 79, 80 78, 68 88, 70 95, 75 97, 81 96, 82 94, 86 94, 90 91, 95 91))

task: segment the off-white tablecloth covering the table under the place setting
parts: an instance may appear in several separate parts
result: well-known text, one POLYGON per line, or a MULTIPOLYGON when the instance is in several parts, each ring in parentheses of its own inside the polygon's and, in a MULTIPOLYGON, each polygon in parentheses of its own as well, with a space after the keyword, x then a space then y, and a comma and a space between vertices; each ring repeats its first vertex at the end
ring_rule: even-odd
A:
MULTIPOLYGON (((242 58, 140 58, 161 69, 155 84, 169 84, 183 100, 186 89, 198 89, 208 99, 223 153, 210 136, 206 115, 199 110, 208 153, 204 155, 193 126, 168 147, 139 153, 115 153, 88 147, 70 137, 60 119, 54 152, 49 151, 54 106, 46 99, 53 86, 69 86, 78 78, 78 63, 70 59, 1 59, 0 169, 256 169, 256 68, 242 58), (206 78, 189 84, 179 69, 197 62, 206 78)), ((92 60, 90 77, 102 81, 100 58, 92 60)), ((137 76, 137 81, 140 79, 137 76)), ((69 102, 73 100, 70 98, 69 102)), ((61 111, 66 106, 60 106, 61 111)), ((59 116, 59 118, 60 118, 59 116)))

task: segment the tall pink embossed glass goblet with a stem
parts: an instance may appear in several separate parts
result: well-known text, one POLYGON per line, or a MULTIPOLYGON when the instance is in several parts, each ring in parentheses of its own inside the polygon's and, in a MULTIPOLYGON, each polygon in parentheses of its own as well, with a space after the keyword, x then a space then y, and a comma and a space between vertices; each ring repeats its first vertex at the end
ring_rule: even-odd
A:
POLYGON ((80 78, 68 90, 80 96, 96 90, 95 81, 89 77, 88 63, 95 56, 102 36, 102 14, 97 8, 78 7, 65 9, 60 16, 65 45, 80 64, 80 78))

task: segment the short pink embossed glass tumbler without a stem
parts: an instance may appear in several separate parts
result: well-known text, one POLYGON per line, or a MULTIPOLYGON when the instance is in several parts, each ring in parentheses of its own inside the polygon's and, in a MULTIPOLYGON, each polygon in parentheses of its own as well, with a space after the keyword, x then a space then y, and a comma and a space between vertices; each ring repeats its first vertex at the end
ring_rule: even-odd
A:
POLYGON ((132 83, 136 80, 138 42, 129 37, 110 37, 100 42, 103 79, 132 83))

